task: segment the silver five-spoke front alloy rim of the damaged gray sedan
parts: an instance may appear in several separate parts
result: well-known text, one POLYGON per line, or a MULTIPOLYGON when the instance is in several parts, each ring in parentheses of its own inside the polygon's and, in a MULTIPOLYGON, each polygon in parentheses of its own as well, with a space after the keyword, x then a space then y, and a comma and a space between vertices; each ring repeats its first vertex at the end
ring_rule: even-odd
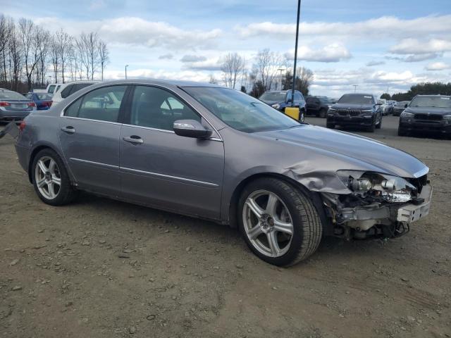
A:
POLYGON ((252 192, 242 211, 243 224, 249 242, 268 257, 283 256, 293 237, 293 223, 287 206, 273 192, 252 192))

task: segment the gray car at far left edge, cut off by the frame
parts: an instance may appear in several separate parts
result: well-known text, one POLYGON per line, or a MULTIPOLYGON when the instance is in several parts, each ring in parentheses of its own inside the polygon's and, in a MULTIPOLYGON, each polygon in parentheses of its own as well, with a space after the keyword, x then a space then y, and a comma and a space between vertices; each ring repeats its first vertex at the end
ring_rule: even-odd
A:
POLYGON ((18 92, 0 88, 0 123, 23 120, 35 110, 35 102, 18 92))

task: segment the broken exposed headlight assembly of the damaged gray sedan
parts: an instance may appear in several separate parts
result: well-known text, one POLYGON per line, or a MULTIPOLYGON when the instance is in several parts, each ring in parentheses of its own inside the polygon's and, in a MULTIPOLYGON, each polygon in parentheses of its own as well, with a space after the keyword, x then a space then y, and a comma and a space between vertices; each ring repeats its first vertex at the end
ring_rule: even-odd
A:
POLYGON ((354 196, 362 199, 406 203, 416 196, 416 187, 402 177, 357 170, 338 170, 337 175, 354 196))

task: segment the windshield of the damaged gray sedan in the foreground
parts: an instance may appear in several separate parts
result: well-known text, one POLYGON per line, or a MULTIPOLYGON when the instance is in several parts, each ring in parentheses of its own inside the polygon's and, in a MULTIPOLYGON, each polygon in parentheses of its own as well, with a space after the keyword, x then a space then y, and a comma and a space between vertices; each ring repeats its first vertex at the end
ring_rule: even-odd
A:
POLYGON ((241 132, 282 130, 300 125, 284 113, 234 89, 212 87, 184 89, 224 123, 241 132))

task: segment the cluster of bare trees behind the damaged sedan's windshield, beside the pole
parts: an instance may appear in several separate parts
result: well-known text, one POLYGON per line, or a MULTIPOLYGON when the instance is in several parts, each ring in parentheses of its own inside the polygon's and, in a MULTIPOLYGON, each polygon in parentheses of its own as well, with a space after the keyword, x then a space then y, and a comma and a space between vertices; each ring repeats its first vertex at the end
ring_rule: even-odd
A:
MULTIPOLYGON (((244 56, 237 53, 229 53, 221 60, 221 76, 226 87, 241 88, 255 97, 259 97, 267 90, 285 90, 292 88, 293 70, 285 56, 263 49, 257 53, 248 68, 244 56)), ((309 86, 313 80, 313 72, 308 68, 297 69, 295 89, 304 95, 309 94, 309 86)), ((211 75, 211 83, 218 80, 211 75)))

